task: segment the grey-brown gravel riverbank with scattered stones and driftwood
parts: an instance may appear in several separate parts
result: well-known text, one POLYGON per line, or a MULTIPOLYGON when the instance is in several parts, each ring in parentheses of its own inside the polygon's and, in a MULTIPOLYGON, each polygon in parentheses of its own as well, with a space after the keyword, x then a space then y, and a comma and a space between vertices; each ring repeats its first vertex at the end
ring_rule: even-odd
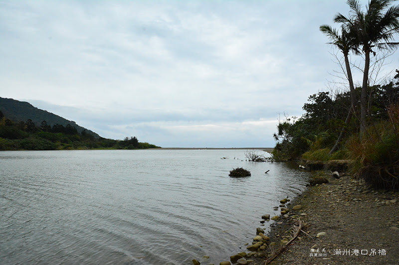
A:
MULTIPOLYGON (((288 217, 275 212, 280 218, 271 225, 268 237, 276 246, 292 234, 298 218, 305 226, 270 264, 398 264, 399 192, 376 191, 348 175, 328 179, 329 183, 308 187, 291 201, 286 206, 288 217), (301 210, 293 211, 294 205, 301 205, 301 210)), ((265 258, 251 259, 251 265, 265 263, 265 258)))

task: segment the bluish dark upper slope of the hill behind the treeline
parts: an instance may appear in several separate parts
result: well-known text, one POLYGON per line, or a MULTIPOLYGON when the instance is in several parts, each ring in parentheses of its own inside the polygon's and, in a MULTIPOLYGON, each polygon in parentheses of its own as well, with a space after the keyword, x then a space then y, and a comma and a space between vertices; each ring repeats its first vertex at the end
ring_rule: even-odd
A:
POLYGON ((65 127, 69 124, 72 127, 75 127, 79 133, 86 130, 87 133, 93 135, 95 138, 100 138, 100 135, 97 133, 77 125, 74 121, 68 121, 53 113, 40 110, 28 102, 0 97, 0 111, 5 117, 15 122, 26 122, 30 119, 37 127, 40 126, 42 121, 46 121, 47 125, 51 127, 56 124, 65 127))

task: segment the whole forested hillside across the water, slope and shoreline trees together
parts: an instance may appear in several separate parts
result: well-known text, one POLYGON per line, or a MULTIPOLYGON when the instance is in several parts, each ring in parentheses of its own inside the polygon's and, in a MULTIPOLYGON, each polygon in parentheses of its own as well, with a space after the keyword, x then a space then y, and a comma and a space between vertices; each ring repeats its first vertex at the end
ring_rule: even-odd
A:
POLYGON ((137 137, 114 140, 27 102, 0 98, 0 150, 143 149, 137 137), (24 120, 26 118, 26 120, 24 120), (46 120, 48 119, 48 120, 46 120))

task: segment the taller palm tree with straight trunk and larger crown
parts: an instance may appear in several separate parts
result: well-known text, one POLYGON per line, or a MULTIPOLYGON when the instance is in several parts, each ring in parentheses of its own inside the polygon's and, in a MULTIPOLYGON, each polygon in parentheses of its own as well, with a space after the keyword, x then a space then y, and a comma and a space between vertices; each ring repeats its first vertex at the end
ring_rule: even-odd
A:
POLYGON ((366 11, 362 10, 359 0, 348 0, 350 17, 338 13, 335 22, 356 32, 359 44, 365 55, 363 84, 361 90, 360 124, 361 133, 366 131, 367 89, 369 85, 370 53, 376 54, 376 49, 395 49, 399 42, 393 42, 394 35, 399 32, 399 5, 390 6, 393 0, 370 0, 366 11))

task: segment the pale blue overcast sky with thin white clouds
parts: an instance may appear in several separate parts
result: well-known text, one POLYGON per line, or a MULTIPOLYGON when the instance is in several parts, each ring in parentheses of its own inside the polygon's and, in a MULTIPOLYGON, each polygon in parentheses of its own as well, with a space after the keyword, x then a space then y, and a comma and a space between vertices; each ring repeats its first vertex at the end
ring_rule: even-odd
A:
POLYGON ((0 0, 0 97, 106 138, 273 147, 279 119, 337 86, 319 26, 338 12, 345 0, 0 0))

